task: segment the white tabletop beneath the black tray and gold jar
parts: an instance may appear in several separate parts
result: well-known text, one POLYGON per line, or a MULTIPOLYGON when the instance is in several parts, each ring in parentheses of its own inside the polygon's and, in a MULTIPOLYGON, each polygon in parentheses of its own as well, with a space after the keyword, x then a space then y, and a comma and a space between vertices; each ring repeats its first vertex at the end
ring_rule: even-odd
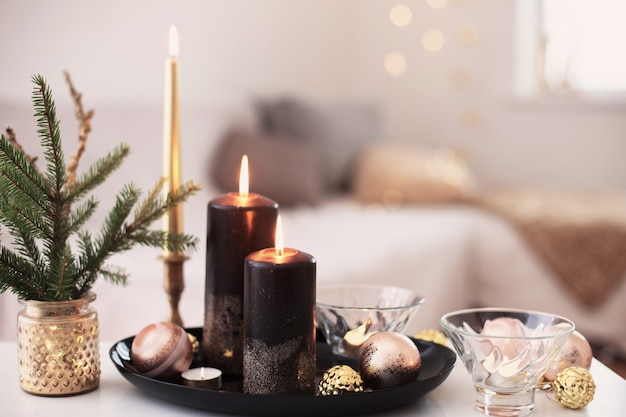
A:
MULTIPOLYGON (((0 415, 7 417, 47 416, 232 416, 210 413, 171 404, 143 393, 126 381, 115 369, 108 355, 113 343, 101 342, 102 375, 100 387, 90 393, 71 397, 39 397, 27 394, 17 378, 17 346, 0 342, 0 415)), ((626 415, 626 380, 594 359, 591 374, 596 382, 594 400, 585 408, 571 410, 536 394, 533 416, 549 417, 623 417, 626 415)), ((294 410, 294 415, 297 415, 294 410)), ((448 379, 408 407, 386 411, 387 416, 477 417, 473 408, 473 387, 463 365, 457 361, 448 379)), ((323 416, 320 416, 323 417, 323 416)))

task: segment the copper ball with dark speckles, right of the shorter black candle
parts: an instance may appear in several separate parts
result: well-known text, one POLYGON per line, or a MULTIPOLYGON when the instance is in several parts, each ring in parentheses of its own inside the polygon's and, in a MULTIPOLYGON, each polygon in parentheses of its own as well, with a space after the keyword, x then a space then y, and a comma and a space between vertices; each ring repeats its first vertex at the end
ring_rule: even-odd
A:
POLYGON ((422 367, 415 343, 396 332, 372 334, 361 345, 359 374, 365 387, 388 388, 413 382, 422 367))

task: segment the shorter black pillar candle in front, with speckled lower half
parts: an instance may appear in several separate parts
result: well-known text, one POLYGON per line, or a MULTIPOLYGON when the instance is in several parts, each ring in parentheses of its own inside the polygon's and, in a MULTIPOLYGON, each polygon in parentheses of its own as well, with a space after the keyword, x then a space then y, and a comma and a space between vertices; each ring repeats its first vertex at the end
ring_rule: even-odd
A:
POLYGON ((244 279, 244 393, 314 395, 315 258, 263 249, 246 258, 244 279))

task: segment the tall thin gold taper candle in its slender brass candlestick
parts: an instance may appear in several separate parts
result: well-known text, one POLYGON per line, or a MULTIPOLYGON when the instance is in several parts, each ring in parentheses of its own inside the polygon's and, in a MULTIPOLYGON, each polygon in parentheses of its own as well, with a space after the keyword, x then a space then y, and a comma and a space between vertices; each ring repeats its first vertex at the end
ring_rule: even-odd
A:
MULTIPOLYGON (((178 32, 170 26, 169 57, 165 60, 165 95, 163 106, 163 177, 164 192, 173 192, 180 187, 180 99, 178 94, 178 32)), ((179 203, 163 218, 163 230, 183 233, 183 207, 179 203)), ((180 326, 183 320, 178 310, 180 296, 185 288, 183 253, 163 251, 163 287, 170 303, 170 321, 180 326)))

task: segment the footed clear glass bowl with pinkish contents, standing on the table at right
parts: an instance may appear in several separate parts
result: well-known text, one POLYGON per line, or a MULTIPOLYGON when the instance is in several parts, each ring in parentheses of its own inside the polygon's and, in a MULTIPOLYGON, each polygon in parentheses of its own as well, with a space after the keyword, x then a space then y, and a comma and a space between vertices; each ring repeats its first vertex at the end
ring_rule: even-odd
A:
POLYGON ((574 331, 565 317, 502 308, 447 313, 441 326, 472 377, 475 408, 490 416, 532 412, 539 381, 574 331))

